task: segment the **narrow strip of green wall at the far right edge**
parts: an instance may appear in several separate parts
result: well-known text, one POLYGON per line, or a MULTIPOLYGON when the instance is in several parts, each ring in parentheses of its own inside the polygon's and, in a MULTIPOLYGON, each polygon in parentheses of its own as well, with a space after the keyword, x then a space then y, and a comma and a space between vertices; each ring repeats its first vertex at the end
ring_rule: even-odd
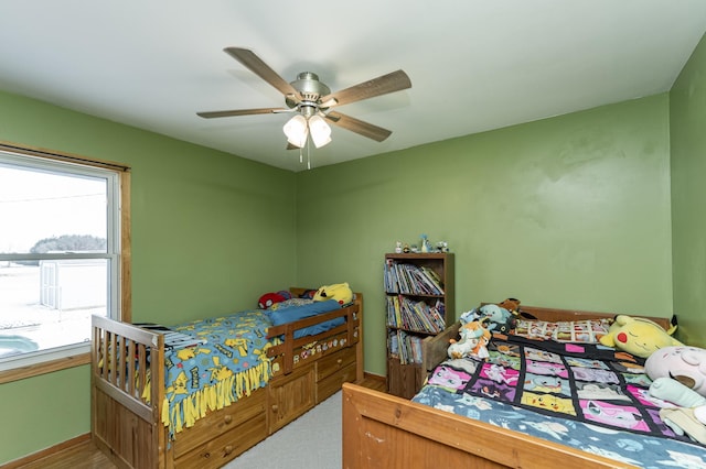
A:
POLYGON ((674 309, 678 337, 706 347, 706 39, 672 87, 670 118, 674 309))

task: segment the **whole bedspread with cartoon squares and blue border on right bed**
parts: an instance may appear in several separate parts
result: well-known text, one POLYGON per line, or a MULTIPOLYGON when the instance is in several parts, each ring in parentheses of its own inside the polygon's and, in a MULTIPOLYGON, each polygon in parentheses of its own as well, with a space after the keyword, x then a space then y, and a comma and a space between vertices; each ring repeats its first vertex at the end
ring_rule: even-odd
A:
POLYGON ((486 361, 448 360, 413 401, 644 468, 706 467, 659 416, 639 359, 596 345, 494 338, 486 361))

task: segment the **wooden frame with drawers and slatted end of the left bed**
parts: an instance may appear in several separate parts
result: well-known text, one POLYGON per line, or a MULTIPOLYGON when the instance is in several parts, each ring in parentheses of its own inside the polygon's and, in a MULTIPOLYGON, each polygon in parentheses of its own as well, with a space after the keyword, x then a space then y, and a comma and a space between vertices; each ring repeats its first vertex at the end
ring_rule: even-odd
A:
MULTIPOLYGON (((298 296, 304 288, 290 291, 298 296)), ((165 395, 163 336, 94 316, 92 438, 120 468, 220 468, 333 395, 344 382, 361 381, 362 335, 360 293, 345 308, 269 328, 268 337, 284 336, 285 340, 268 348, 276 371, 267 386, 210 412, 170 440, 161 422, 165 395), (344 317, 345 323, 317 336, 293 338, 299 328, 336 317, 344 317), (321 347, 334 339, 336 347, 321 347), (145 373, 139 372, 147 368, 152 382, 149 400, 141 397, 147 383, 145 373)))

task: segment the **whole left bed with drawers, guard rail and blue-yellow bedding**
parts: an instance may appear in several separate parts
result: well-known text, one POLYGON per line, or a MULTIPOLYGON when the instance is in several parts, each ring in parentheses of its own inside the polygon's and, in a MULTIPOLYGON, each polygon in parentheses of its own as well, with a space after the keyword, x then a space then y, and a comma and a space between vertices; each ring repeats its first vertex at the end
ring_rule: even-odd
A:
POLYGON ((171 326, 94 316, 92 436, 121 468, 218 468, 363 379, 363 297, 171 326))

